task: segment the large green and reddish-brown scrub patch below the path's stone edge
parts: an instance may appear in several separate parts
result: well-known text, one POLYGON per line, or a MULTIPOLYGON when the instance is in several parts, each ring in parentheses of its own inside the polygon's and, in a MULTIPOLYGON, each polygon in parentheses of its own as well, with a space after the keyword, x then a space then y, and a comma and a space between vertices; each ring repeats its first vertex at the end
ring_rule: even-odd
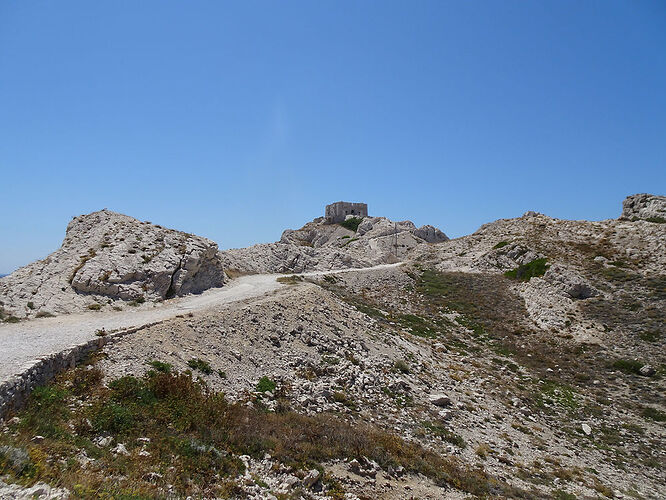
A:
POLYGON ((57 483, 82 498, 155 498, 167 485, 179 497, 235 498, 239 493, 233 491, 233 480, 244 472, 240 455, 261 459, 270 453, 297 470, 367 457, 384 469, 401 466, 472 495, 531 498, 480 469, 370 424, 351 424, 329 413, 306 416, 230 403, 187 373, 122 377, 107 388, 101 377, 95 382, 86 375, 93 371, 77 368, 54 385, 33 391, 17 415, 21 424, 2 437, 1 474, 24 484, 57 483), (86 404, 65 388, 77 376, 93 384, 83 396, 86 404), (126 443, 130 454, 92 444, 100 433, 126 443), (37 434, 45 439, 31 442, 37 434), (82 449, 95 459, 94 467, 74 458, 82 449), (14 460, 20 467, 7 465, 8 452, 14 450, 21 455, 14 460))

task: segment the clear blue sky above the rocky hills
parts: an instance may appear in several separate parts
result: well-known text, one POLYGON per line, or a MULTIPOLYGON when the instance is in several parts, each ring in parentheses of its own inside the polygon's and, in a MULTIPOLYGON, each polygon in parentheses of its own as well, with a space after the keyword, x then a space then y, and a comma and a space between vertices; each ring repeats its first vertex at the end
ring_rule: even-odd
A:
POLYGON ((0 273, 109 209, 274 241, 666 194, 661 1, 0 3, 0 273))

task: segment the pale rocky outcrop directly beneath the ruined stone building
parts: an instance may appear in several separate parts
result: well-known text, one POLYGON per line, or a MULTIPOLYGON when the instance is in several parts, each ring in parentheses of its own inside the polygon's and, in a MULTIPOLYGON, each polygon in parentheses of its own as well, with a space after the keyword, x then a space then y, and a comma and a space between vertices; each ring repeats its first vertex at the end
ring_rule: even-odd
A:
POLYGON ((447 241, 433 226, 365 217, 356 230, 323 218, 287 229, 277 243, 225 250, 225 269, 245 273, 284 273, 368 267, 404 260, 418 246, 447 241))

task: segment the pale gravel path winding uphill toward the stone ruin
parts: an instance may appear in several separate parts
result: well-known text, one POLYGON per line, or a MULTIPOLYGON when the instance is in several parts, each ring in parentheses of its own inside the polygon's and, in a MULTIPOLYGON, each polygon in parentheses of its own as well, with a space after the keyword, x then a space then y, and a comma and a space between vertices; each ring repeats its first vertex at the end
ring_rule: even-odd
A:
MULTIPOLYGON (((303 276, 336 274, 395 267, 385 264, 364 269, 316 271, 303 276)), ((33 319, 15 324, 0 325, 0 384, 19 375, 38 362, 39 358, 56 354, 95 338, 95 332, 123 330, 173 318, 179 314, 210 307, 227 306, 235 302, 266 295, 284 286, 276 281, 278 275, 256 274, 243 276, 222 288, 207 290, 200 295, 171 299, 159 304, 126 308, 123 311, 68 314, 55 318, 33 319)))

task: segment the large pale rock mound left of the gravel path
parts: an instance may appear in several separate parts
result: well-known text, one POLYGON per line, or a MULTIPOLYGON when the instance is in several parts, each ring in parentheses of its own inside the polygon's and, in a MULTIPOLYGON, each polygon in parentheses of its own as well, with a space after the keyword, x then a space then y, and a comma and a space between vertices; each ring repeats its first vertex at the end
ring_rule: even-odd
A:
POLYGON ((2 278, 0 301, 4 314, 23 318, 140 304, 223 283, 213 241, 101 210, 74 218, 46 259, 2 278))

